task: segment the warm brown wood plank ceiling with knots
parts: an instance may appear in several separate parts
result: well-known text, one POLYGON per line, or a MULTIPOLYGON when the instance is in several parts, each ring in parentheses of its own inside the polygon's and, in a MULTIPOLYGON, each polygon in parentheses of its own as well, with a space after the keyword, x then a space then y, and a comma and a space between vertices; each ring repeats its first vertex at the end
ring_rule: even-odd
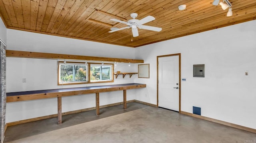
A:
POLYGON ((0 15, 7 28, 32 31, 128 47, 139 47, 219 27, 256 19, 256 0, 230 0, 228 10, 212 5, 213 0, 0 0, 0 15), (186 4, 186 10, 178 6, 186 4), (111 27, 125 24, 131 13, 136 19, 154 16, 144 25, 162 27, 162 31, 131 29, 108 33, 111 27), (133 39, 133 40, 131 40, 133 39))

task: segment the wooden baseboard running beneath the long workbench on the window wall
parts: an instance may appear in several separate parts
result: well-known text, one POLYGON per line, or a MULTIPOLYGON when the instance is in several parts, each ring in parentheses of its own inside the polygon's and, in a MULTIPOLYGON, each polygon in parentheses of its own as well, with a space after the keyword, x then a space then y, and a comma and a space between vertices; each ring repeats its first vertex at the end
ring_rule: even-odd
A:
MULTIPOLYGON (((130 102, 135 102, 135 100, 128 100, 126 101, 126 103, 130 103, 130 102)), ((123 102, 117 102, 117 103, 113 103, 113 104, 107 104, 107 105, 102 105, 100 106, 100 108, 106 108, 106 107, 110 107, 110 106, 116 106, 116 105, 120 105, 123 104, 123 102)), ((96 107, 92 107, 92 108, 85 108, 85 109, 80 109, 80 110, 75 110, 75 111, 70 111, 70 112, 63 112, 62 116, 64 115, 69 115, 69 114, 74 114, 74 113, 80 113, 80 112, 85 112, 85 111, 90 111, 90 110, 95 110, 96 107)), ((52 115, 47 115, 47 116, 41 116, 41 117, 36 117, 36 118, 31 118, 31 119, 24 119, 24 120, 20 120, 20 121, 14 121, 14 122, 10 122, 6 124, 6 128, 12 125, 18 125, 21 123, 28 123, 31 121, 38 121, 41 119, 48 119, 48 118, 54 118, 54 117, 58 117, 58 114, 52 114, 52 115)))

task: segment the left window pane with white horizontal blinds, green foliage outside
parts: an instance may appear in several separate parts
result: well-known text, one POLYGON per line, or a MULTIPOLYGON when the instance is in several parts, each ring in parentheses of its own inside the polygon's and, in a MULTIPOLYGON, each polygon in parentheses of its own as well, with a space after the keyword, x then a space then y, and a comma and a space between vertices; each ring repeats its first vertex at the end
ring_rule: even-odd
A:
POLYGON ((59 67, 59 84, 87 82, 87 75, 87 66, 84 64, 61 63, 59 67))

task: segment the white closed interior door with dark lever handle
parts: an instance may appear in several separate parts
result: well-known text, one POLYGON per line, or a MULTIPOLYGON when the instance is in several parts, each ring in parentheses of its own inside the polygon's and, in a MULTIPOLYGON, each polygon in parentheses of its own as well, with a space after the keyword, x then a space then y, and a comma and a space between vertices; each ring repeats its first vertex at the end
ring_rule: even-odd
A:
POLYGON ((179 56, 158 57, 158 106, 179 111, 179 56))

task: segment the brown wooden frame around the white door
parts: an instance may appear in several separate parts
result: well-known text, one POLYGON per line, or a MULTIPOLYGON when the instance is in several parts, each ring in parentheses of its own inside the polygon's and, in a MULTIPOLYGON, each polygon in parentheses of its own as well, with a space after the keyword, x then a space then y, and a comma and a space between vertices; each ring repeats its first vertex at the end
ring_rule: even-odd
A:
POLYGON ((156 69, 157 69, 157 72, 156 72, 156 76, 157 76, 157 80, 156 80, 156 83, 157 83, 157 92, 156 92, 156 97, 157 97, 157 103, 156 103, 156 105, 157 105, 157 107, 158 107, 158 58, 160 58, 160 57, 171 57, 171 56, 179 56, 179 113, 180 113, 180 106, 181 106, 181 90, 180 90, 180 88, 181 88, 181 85, 180 85, 180 83, 181 83, 181 62, 180 62, 180 53, 177 53, 177 54, 170 54, 170 55, 162 55, 162 56, 157 56, 156 57, 156 69))

